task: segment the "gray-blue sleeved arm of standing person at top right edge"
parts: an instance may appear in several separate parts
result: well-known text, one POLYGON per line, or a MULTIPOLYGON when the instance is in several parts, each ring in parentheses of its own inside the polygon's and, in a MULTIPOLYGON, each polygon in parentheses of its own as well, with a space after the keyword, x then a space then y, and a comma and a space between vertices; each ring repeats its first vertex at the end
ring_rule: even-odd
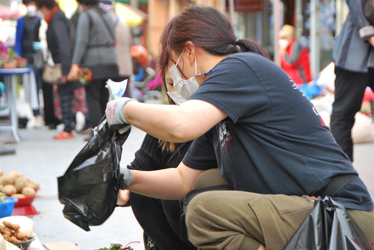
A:
POLYGON ((374 36, 374 26, 371 25, 364 16, 362 7, 363 1, 364 0, 347 0, 347 4, 349 7, 349 15, 358 29, 360 37, 362 40, 368 41, 370 37, 374 36))

